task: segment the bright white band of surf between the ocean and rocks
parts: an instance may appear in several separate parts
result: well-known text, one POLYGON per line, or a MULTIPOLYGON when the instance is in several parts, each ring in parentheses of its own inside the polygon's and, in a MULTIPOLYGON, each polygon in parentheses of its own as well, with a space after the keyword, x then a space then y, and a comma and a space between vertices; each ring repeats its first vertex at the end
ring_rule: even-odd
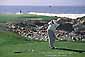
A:
POLYGON ((78 17, 83 17, 85 14, 52 14, 52 13, 39 13, 39 12, 29 12, 27 14, 43 15, 43 16, 58 16, 58 17, 68 17, 76 19, 78 17))

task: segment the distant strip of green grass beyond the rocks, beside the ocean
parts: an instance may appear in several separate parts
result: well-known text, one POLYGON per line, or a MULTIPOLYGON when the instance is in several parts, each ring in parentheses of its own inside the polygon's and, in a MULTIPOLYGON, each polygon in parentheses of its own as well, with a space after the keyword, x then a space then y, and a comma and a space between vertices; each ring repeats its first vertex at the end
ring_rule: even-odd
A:
POLYGON ((0 14, 0 22, 8 22, 8 21, 14 21, 14 20, 50 20, 53 19, 52 16, 40 16, 40 15, 33 15, 33 14, 0 14))

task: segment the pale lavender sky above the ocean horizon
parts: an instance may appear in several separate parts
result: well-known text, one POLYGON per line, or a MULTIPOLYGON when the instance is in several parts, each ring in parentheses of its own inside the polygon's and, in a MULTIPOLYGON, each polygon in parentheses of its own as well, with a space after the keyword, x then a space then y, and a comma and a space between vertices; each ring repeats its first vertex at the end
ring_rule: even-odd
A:
POLYGON ((0 0, 0 5, 85 6, 85 0, 0 0))

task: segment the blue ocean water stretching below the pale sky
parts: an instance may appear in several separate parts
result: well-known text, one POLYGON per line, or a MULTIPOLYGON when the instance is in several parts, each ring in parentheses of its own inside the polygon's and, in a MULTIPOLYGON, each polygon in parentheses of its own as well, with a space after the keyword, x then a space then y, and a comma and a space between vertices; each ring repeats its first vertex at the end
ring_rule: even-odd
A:
POLYGON ((85 14, 85 6, 0 6, 0 14, 40 12, 54 14, 85 14))

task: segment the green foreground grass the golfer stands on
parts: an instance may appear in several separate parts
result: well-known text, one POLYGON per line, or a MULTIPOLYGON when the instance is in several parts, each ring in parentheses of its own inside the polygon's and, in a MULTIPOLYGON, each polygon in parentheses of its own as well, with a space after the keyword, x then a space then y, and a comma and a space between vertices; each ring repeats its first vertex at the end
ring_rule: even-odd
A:
MULTIPOLYGON (((85 43, 56 41, 56 47, 85 50, 85 43)), ((85 53, 52 50, 48 42, 26 41, 15 33, 0 32, 0 57, 85 57, 85 53)))

